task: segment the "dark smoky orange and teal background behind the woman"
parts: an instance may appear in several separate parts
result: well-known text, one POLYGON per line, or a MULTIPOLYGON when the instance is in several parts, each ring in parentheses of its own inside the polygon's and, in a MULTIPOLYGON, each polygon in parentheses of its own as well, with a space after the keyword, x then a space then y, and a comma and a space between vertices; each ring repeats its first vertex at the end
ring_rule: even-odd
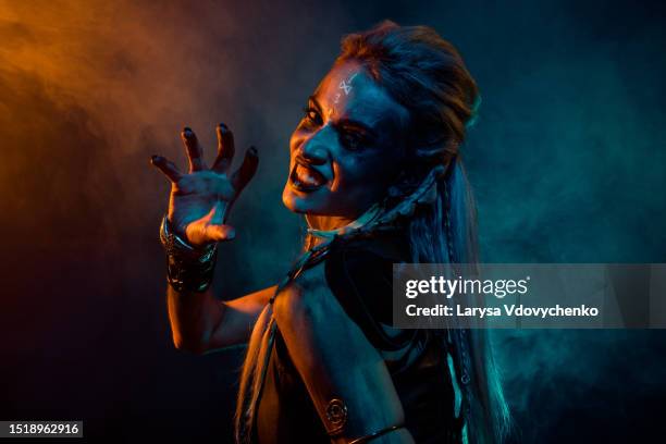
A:
MULTIPOLYGON (((662 2, 0 2, 0 419, 89 441, 229 442, 240 351, 173 349, 158 223, 185 124, 260 150, 222 297, 299 247, 287 140, 343 34, 427 24, 476 76, 483 259, 666 262, 662 2)), ((497 332, 516 441, 654 442, 666 332, 497 332), (652 437, 650 437, 652 436, 652 437)))

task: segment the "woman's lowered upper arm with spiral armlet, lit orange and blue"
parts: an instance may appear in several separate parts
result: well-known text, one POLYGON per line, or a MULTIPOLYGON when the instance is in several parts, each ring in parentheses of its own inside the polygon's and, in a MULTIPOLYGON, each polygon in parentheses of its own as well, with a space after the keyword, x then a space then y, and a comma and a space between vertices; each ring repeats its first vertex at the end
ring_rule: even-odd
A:
POLYGON ((333 443, 375 433, 373 444, 414 442, 381 355, 331 293, 323 264, 281 292, 273 313, 333 443))

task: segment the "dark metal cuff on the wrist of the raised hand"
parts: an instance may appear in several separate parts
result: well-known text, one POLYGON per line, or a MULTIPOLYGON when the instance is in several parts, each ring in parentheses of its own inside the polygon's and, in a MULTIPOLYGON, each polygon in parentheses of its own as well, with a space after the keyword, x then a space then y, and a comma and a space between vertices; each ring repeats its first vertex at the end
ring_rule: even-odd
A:
POLYGON ((166 281, 177 292, 205 292, 211 284, 218 244, 197 248, 178 237, 166 215, 160 226, 160 240, 166 254, 166 281))

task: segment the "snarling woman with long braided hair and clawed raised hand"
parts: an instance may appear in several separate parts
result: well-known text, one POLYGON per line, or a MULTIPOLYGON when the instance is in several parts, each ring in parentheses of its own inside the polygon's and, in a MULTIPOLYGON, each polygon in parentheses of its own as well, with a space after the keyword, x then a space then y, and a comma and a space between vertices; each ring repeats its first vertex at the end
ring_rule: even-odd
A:
POLYGON ((291 139, 283 201, 305 214, 304 254, 280 285, 231 301, 209 285, 256 150, 230 174, 233 136, 221 124, 210 169, 189 128, 189 173, 153 157, 172 182, 161 237, 176 347, 249 342, 237 442, 502 439, 507 409, 484 332, 390 326, 392 263, 476 261, 459 147, 477 101, 433 29, 385 22, 347 36, 291 139))

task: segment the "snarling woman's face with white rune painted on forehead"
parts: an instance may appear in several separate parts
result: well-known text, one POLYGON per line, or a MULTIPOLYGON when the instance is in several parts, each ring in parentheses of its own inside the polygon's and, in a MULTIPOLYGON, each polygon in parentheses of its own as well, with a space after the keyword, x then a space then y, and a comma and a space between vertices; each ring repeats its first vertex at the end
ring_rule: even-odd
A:
POLYGON ((284 205, 299 213, 358 218, 400 170, 407 116, 358 63, 334 66, 292 135, 284 205))

